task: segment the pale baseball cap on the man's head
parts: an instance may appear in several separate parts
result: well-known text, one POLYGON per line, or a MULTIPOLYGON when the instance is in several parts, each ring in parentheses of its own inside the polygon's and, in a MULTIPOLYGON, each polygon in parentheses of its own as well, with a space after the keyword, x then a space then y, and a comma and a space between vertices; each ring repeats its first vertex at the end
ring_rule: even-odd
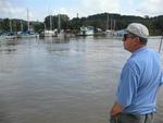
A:
POLYGON ((125 34, 131 33, 131 34, 142 37, 142 38, 148 38, 148 36, 149 36, 148 28, 140 23, 130 23, 125 30, 126 30, 125 34))

